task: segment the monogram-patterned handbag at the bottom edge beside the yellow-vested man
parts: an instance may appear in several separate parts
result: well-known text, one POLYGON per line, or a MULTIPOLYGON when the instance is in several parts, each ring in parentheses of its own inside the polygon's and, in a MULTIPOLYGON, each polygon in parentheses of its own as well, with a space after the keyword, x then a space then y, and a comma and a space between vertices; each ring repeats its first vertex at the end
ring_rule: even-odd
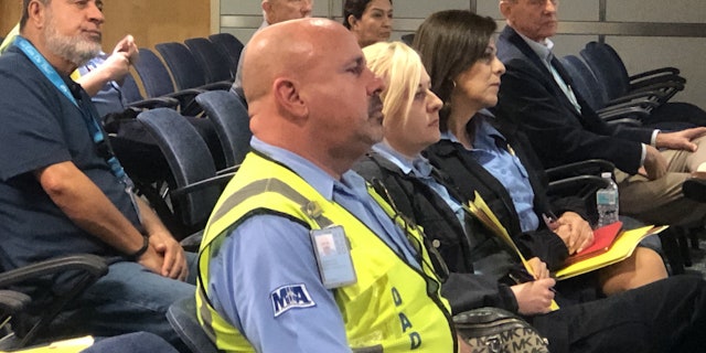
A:
POLYGON ((453 317, 457 332, 473 353, 548 353, 549 341, 516 314, 480 308, 453 317))

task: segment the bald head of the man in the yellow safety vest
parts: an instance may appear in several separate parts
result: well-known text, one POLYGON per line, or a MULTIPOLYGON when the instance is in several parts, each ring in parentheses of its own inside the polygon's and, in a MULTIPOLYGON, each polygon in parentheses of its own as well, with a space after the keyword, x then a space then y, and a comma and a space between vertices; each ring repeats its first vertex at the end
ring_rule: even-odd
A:
POLYGON ((383 88, 355 36, 331 20, 268 26, 245 51, 243 89, 253 133, 335 178, 382 139, 383 88))

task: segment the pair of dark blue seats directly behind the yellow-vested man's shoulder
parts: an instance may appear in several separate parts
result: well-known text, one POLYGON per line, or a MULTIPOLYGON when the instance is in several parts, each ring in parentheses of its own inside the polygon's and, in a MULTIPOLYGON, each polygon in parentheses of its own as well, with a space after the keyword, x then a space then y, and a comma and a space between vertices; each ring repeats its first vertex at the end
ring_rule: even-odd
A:
POLYGON ((167 188, 160 183, 142 184, 140 191, 180 239, 205 226, 221 194, 220 186, 225 185, 245 158, 253 136, 247 109, 235 94, 203 92, 195 101, 204 110, 204 118, 212 122, 221 143, 225 157, 222 170, 216 170, 202 136, 181 113, 156 108, 138 116, 138 121, 154 138, 170 170, 167 188))

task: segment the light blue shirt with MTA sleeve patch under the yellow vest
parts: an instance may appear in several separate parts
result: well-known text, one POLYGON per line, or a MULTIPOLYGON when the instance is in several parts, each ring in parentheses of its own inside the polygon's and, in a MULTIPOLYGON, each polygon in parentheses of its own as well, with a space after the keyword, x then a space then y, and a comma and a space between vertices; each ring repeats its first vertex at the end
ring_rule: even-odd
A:
MULTIPOLYGON (((367 194, 356 173, 334 180, 310 161, 253 138, 254 149, 284 163, 328 200, 351 211, 408 263, 419 266, 404 233, 367 194)), ((211 260, 210 298, 258 352, 347 352, 333 292, 323 287, 309 231, 276 215, 249 217, 211 260), (296 290, 306 299, 275 309, 272 293, 296 290)), ((300 297, 302 298, 302 297, 300 297)))

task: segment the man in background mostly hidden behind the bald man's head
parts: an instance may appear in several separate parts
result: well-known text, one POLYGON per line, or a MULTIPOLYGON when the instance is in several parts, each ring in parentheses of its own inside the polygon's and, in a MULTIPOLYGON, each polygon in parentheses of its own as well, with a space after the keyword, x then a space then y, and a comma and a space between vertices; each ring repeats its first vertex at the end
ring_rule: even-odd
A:
MULTIPOLYGON (((263 8, 263 24, 255 33, 275 23, 311 17, 313 0, 263 0, 260 6, 263 8)), ((243 95, 243 58, 246 51, 247 45, 240 52, 235 81, 233 82, 233 87, 231 87, 231 92, 238 95, 243 101, 245 101, 245 96, 243 95)))

